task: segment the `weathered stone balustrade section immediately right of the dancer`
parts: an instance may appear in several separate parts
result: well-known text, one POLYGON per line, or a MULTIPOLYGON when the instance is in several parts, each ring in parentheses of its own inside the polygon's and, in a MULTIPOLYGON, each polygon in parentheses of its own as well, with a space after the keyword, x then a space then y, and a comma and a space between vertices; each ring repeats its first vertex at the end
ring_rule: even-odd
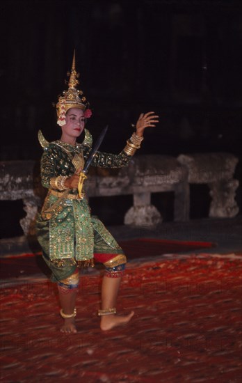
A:
POLYGON ((143 155, 131 159, 127 168, 92 168, 86 182, 88 196, 133 194, 133 206, 124 216, 124 224, 154 226, 162 221, 160 212, 151 204, 151 194, 174 192, 176 221, 188 219, 187 171, 175 157, 143 155))

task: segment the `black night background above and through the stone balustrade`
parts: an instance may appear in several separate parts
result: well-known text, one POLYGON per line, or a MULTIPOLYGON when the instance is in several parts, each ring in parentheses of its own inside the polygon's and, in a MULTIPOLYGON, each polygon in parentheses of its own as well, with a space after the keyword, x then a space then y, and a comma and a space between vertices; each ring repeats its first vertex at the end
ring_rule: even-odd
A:
MULTIPOLYGON (((131 123, 156 111, 160 123, 137 155, 226 151, 239 157, 241 178, 241 1, 8 0, 0 11, 1 160, 40 159, 39 129, 59 138, 51 104, 75 48, 93 112, 87 127, 95 139, 109 125, 103 151, 119 153, 131 123)), ((196 201, 204 189, 194 193, 196 201)), ((236 198, 241 205, 241 188, 236 198)), ((153 199, 172 219, 172 197, 153 199)))

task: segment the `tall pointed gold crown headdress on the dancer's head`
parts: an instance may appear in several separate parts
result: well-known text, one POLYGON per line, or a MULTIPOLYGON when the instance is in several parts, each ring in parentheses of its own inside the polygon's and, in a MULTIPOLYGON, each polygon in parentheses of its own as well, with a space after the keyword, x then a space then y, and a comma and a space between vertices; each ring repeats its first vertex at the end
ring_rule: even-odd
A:
POLYGON ((76 72, 76 61, 75 61, 75 51, 72 61, 72 70, 68 72, 67 75, 70 76, 68 83, 68 90, 63 91, 63 95, 58 97, 58 103, 56 104, 57 112, 57 123, 60 126, 65 125, 65 114, 70 108, 79 108, 84 111, 84 117, 89 118, 92 115, 92 111, 87 109, 88 102, 86 97, 83 95, 83 91, 76 89, 76 85, 79 84, 78 77, 79 73, 76 72))

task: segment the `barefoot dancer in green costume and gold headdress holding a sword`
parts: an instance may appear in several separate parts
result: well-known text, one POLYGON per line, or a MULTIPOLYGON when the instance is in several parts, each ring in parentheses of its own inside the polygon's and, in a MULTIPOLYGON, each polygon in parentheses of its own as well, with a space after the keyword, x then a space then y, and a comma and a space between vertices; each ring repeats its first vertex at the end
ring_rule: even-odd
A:
MULTIPOLYGON (((129 322, 134 311, 128 315, 116 314, 116 300, 127 259, 97 217, 90 215, 85 194, 78 192, 80 173, 90 155, 92 136, 85 129, 86 119, 92 112, 81 90, 76 86, 78 74, 75 56, 68 90, 58 98, 56 111, 61 139, 47 142, 39 132, 40 144, 44 148, 41 159, 42 185, 48 189, 45 203, 37 219, 37 236, 42 255, 51 269, 51 281, 58 284, 61 316, 64 319, 61 331, 76 333, 76 293, 79 286, 79 268, 93 266, 93 260, 104 264, 102 280, 102 307, 98 310, 102 330, 109 330, 129 322), (83 143, 76 139, 85 129, 83 143)), ((158 123, 154 112, 140 114, 136 133, 132 134, 119 155, 97 151, 92 166, 119 168, 127 166, 143 141, 146 127, 158 123)))

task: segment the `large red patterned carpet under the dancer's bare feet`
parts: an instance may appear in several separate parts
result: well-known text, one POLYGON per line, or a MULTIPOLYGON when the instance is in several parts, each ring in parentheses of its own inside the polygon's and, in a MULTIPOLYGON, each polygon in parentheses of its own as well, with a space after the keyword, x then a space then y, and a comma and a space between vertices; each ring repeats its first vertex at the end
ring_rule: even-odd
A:
POLYGON ((83 275, 78 334, 58 329, 49 282, 1 289, 1 382, 241 382, 241 256, 130 265, 118 312, 99 330, 100 276, 83 275))

